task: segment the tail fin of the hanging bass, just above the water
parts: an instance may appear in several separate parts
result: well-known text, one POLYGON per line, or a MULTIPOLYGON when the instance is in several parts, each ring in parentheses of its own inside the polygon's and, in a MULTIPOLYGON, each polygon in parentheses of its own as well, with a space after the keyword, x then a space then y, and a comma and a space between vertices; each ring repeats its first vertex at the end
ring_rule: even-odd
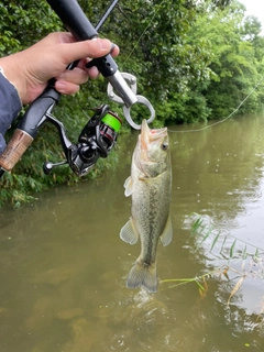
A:
POLYGON ((131 268, 127 287, 136 288, 143 286, 148 293, 157 292, 157 274, 156 263, 147 265, 136 261, 134 266, 131 268))

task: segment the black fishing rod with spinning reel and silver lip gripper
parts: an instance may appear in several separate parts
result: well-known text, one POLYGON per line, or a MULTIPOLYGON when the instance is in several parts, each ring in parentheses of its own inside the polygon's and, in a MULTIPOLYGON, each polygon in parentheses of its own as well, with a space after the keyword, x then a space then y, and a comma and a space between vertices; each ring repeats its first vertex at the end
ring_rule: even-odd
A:
MULTIPOLYGON (((76 0, 47 0, 47 2, 75 40, 86 41, 98 37, 98 30, 106 22, 118 0, 112 1, 96 28, 76 0)), ((72 63, 67 69, 74 69, 77 64, 78 62, 72 63)), ((135 103, 142 103, 148 109, 151 117, 147 123, 154 120, 155 111, 151 102, 144 96, 136 94, 136 78, 131 74, 120 73, 111 53, 91 59, 87 67, 92 66, 96 66, 108 80, 108 97, 123 106, 124 118, 132 128, 141 129, 141 125, 134 123, 130 116, 131 107, 135 103)), ((122 124, 121 119, 110 111, 108 105, 101 105, 92 109, 95 113, 81 129, 78 141, 72 143, 66 135, 64 124, 52 116, 59 98, 61 94, 54 88, 54 79, 52 79, 44 91, 29 106, 6 150, 0 155, 0 178, 6 172, 12 170, 45 122, 56 127, 66 157, 65 161, 58 163, 45 163, 43 166, 45 174, 48 174, 55 166, 68 164, 76 175, 82 176, 90 172, 99 157, 108 156, 117 143, 122 124)))

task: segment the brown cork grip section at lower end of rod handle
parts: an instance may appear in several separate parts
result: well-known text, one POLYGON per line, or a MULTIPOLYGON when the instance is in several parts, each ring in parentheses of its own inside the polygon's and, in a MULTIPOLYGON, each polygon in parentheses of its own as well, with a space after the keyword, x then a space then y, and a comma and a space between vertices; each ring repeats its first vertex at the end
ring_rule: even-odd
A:
POLYGON ((33 138, 22 130, 15 130, 2 155, 0 167, 10 172, 31 145, 33 138))

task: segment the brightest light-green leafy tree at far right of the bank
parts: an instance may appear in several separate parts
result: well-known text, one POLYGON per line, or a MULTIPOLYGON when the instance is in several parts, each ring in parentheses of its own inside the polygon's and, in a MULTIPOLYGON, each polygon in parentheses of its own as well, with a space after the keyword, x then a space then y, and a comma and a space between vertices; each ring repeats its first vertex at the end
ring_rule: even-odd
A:
MULTIPOLYGON (((238 1, 223 11, 198 18, 191 38, 202 35, 211 52, 209 68, 212 73, 201 94, 211 110, 210 118, 227 118, 251 94, 263 74, 258 58, 260 22, 248 18, 243 23, 245 8, 238 1), (254 46, 255 43, 256 47, 254 46)), ((264 53, 263 53, 264 54, 264 53)), ((262 55, 263 56, 263 55, 262 55)), ((262 107, 260 94, 254 91, 240 109, 240 113, 262 107)))

